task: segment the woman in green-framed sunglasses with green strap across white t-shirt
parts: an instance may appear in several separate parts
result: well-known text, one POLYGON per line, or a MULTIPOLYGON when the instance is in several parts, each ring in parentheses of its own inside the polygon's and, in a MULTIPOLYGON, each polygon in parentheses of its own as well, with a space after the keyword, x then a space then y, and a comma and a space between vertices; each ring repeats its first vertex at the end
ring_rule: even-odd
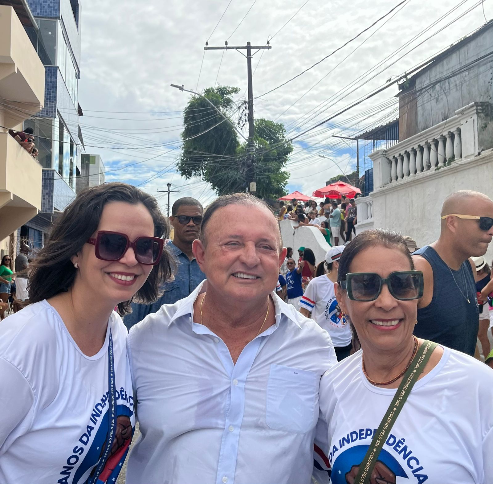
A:
POLYGON ((331 482, 491 483, 493 372, 413 336, 423 274, 403 237, 362 232, 337 280, 361 349, 320 381, 331 482))

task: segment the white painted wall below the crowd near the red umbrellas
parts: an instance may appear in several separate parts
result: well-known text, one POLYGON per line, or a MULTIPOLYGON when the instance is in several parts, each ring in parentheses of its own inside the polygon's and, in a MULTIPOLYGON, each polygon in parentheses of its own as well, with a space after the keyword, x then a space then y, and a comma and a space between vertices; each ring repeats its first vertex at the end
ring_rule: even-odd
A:
POLYGON ((317 264, 318 262, 323 261, 330 246, 325 241, 320 230, 308 225, 299 227, 295 230, 294 227, 298 225, 298 223, 290 220, 283 220, 279 224, 281 227, 282 245, 284 247, 292 247, 293 258, 295 261, 298 261, 299 257, 297 252, 298 247, 312 249, 317 264))

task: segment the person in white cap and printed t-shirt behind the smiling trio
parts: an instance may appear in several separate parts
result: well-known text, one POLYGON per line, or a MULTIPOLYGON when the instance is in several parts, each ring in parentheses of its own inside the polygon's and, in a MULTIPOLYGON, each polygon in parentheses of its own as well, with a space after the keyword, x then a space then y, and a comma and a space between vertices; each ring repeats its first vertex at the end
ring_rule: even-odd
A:
POLYGON ((326 330, 332 339, 337 360, 341 361, 351 354, 351 328, 336 299, 334 283, 337 282, 339 259, 344 251, 343 245, 331 247, 325 260, 317 266, 315 279, 308 284, 300 299, 300 312, 326 330))

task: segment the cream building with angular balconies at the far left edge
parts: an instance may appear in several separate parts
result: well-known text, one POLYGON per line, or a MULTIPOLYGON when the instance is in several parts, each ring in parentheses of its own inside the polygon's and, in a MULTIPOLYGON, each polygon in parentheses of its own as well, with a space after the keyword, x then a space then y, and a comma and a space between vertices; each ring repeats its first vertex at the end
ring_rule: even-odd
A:
POLYGON ((34 18, 22 3, 0 4, 0 257, 13 255, 13 232, 41 210, 42 167, 8 133, 44 103, 45 70, 25 27, 34 18), (22 18, 22 22, 21 19, 22 18), (24 25, 23 25, 24 23, 24 25))

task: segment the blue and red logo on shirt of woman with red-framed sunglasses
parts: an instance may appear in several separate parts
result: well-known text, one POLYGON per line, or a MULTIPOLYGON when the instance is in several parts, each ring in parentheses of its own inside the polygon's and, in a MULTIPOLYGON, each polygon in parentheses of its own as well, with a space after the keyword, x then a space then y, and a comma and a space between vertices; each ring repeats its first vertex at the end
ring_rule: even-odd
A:
POLYGON ((134 398, 122 387, 115 391, 116 429, 105 466, 94 482, 108 437, 109 392, 91 410, 85 429, 60 471, 58 484, 114 484, 128 453, 134 435, 134 398))

